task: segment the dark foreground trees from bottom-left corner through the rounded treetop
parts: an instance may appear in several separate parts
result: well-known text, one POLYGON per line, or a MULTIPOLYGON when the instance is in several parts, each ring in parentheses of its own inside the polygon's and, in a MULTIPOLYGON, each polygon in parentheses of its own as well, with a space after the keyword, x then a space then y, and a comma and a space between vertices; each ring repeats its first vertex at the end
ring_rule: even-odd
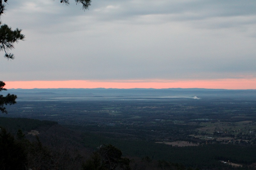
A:
MULTIPOLYGON (((79 169, 83 157, 69 152, 67 145, 60 147, 43 146, 39 137, 30 142, 18 130, 16 137, 0 127, 0 169, 79 169), (15 162, 15 164, 13 163, 15 162)), ((130 170, 130 160, 122 158, 122 152, 112 146, 100 146, 86 160, 83 169, 120 169, 130 170)))

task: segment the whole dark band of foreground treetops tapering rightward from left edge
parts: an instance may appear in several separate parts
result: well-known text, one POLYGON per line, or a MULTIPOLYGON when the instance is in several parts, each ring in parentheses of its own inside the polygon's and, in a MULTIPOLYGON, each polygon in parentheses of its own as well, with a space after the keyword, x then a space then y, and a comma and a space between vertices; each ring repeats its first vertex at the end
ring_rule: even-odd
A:
POLYGON ((101 144, 94 152, 81 155, 72 150, 68 143, 61 139, 55 146, 44 145, 35 136, 31 142, 18 130, 16 135, 0 127, 0 169, 2 170, 48 170, 48 169, 81 169, 81 170, 146 170, 146 169, 186 169, 180 164, 166 161, 155 161, 149 157, 129 159, 122 157, 122 152, 115 146, 101 144))

